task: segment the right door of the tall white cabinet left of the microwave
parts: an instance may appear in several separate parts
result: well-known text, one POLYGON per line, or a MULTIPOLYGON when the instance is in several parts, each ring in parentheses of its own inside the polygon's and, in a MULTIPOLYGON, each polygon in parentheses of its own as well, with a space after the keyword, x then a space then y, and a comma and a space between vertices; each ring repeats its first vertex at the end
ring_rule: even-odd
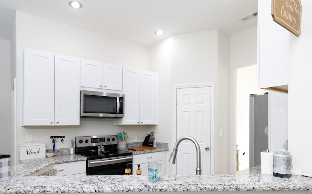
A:
POLYGON ((80 124, 80 59, 55 55, 55 125, 80 124))

